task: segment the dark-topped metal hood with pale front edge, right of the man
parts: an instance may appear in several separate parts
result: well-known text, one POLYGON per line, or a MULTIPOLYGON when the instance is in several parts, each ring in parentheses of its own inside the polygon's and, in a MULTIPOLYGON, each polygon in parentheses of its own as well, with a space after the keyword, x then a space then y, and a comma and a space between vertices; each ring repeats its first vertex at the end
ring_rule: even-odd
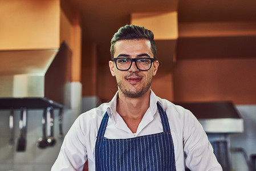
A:
POLYGON ((174 103, 189 109, 206 133, 241 133, 243 119, 231 101, 174 103))

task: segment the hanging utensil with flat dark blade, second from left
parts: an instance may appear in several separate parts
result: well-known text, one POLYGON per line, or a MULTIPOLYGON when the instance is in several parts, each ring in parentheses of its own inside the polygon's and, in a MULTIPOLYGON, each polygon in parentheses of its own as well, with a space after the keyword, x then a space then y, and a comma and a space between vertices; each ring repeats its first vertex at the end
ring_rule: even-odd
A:
POLYGON ((26 119, 27 119, 27 109, 23 107, 21 108, 21 117, 19 119, 20 136, 17 143, 18 152, 24 152, 26 150, 26 119))

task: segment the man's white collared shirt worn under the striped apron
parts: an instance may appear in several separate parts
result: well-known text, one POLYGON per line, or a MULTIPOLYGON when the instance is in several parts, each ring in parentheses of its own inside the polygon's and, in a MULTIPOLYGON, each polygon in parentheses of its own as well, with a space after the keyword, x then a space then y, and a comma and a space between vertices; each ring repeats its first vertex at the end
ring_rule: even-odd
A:
POLYGON ((108 139, 128 139, 137 136, 162 132, 162 123, 157 104, 159 103, 168 117, 172 134, 176 170, 185 170, 185 163, 190 170, 222 170, 213 154, 212 145, 201 124, 194 115, 168 100, 157 97, 151 91, 150 105, 141 120, 136 133, 127 127, 122 117, 116 112, 118 92, 109 103, 91 109, 80 115, 68 131, 52 171, 83 170, 88 160, 89 170, 95 170, 95 143, 101 119, 108 112, 109 119, 104 137, 108 139))

